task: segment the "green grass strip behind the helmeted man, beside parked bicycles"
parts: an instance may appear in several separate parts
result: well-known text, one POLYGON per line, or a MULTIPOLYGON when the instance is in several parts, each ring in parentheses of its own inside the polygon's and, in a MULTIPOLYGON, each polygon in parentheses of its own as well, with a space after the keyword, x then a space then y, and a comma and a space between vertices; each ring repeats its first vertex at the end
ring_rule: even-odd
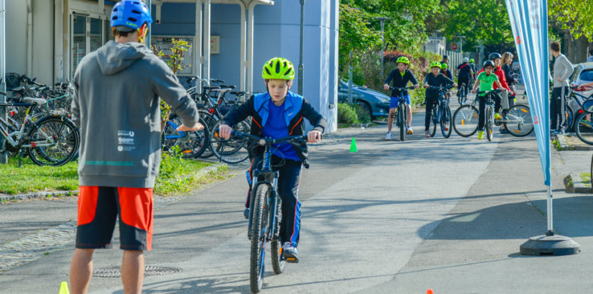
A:
MULTIPOLYGON (((155 194, 174 195, 225 178, 226 168, 196 176, 200 169, 213 163, 199 160, 184 160, 164 154, 160 173, 155 184, 155 194)), ((61 167, 38 166, 31 159, 24 158, 19 167, 18 158, 10 158, 8 164, 0 165, 0 193, 19 194, 25 192, 78 190, 78 161, 61 167)))

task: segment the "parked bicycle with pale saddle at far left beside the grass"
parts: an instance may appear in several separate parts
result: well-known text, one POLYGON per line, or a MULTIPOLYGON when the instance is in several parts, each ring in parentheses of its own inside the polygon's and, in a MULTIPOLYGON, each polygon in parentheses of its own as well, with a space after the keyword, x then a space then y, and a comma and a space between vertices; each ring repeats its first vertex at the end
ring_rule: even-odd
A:
MULTIPOLYGON (((1 95, 6 93, 0 92, 1 95)), ((65 165, 76 155, 80 147, 80 134, 65 116, 44 116, 33 122, 32 109, 46 103, 42 98, 21 98, 22 102, 0 103, 0 107, 27 107, 23 122, 0 117, 0 134, 4 143, 0 154, 7 151, 23 155, 24 151, 36 165, 65 165)))

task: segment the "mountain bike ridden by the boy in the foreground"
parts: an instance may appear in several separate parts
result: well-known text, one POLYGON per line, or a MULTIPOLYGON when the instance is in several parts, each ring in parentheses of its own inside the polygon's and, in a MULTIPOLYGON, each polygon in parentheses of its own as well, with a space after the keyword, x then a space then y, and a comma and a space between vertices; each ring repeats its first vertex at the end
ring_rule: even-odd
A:
POLYGON ((284 142, 304 144, 307 141, 307 136, 273 139, 259 138, 251 134, 233 131, 231 137, 235 140, 250 141, 264 147, 265 150, 261 169, 255 169, 252 173, 248 223, 248 238, 251 241, 249 280, 251 291, 259 293, 264 285, 266 243, 270 242, 274 273, 284 272, 286 266, 286 259, 282 257, 280 240, 282 205, 280 195, 277 193, 279 174, 272 169, 271 158, 274 149, 272 145, 284 142))

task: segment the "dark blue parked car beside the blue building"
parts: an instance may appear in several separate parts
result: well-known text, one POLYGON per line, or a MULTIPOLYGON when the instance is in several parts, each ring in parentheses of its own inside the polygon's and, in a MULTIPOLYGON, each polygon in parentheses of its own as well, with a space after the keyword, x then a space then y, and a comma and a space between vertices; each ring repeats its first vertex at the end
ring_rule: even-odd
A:
MULTIPOLYGON (((389 100, 389 96, 384 93, 363 86, 352 85, 352 102, 360 104, 371 120, 388 116, 389 100)), ((341 81, 338 84, 338 102, 348 102, 347 82, 341 81)))

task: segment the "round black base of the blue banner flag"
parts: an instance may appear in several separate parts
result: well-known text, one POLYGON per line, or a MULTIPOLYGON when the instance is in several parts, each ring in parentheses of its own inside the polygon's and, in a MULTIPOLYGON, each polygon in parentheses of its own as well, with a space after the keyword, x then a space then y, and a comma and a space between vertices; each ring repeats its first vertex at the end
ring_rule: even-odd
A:
POLYGON ((574 255, 581 252, 581 245, 569 237, 541 235, 521 244, 519 252, 522 255, 574 255))

